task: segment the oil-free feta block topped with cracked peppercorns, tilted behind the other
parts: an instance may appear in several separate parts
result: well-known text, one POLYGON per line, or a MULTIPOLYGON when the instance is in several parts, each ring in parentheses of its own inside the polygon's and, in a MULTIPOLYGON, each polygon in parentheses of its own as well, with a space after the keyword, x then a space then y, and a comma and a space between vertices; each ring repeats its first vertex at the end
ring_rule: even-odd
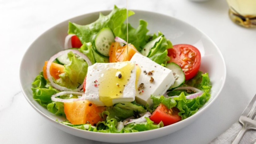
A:
MULTIPOLYGON (((135 53, 131 59, 141 69, 137 80, 136 102, 142 105, 153 104, 150 95, 163 95, 168 88, 174 84, 175 78, 172 70, 159 65, 158 63, 135 53)), ((137 68, 138 69, 138 68, 137 68)))

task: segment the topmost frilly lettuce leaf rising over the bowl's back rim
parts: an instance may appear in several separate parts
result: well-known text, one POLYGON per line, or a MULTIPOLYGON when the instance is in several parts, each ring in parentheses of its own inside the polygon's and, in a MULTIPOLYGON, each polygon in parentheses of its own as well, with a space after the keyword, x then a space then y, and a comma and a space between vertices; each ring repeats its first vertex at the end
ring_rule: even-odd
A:
MULTIPOLYGON (((112 29, 115 36, 122 35, 122 25, 127 18, 126 9, 119 9, 116 5, 110 14, 103 15, 100 13, 98 20, 95 22, 82 26, 69 22, 68 34, 76 34, 81 43, 88 43, 94 41, 96 35, 103 27, 109 27, 112 29)), ((134 12, 129 10, 128 17, 133 15, 134 12)))

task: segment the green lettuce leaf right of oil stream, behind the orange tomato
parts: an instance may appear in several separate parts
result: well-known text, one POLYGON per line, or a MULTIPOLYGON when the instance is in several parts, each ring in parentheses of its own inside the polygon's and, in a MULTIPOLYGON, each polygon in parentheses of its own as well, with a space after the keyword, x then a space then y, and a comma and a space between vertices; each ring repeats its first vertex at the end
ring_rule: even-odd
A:
MULTIPOLYGON (((147 41, 147 33, 148 33, 148 22, 140 19, 139 20, 139 26, 135 29, 131 26, 131 24, 128 24, 128 42, 137 48, 138 51, 141 51, 141 49, 146 45, 147 41)), ((126 40, 127 39, 127 24, 122 25, 122 34, 117 35, 120 38, 126 40)))

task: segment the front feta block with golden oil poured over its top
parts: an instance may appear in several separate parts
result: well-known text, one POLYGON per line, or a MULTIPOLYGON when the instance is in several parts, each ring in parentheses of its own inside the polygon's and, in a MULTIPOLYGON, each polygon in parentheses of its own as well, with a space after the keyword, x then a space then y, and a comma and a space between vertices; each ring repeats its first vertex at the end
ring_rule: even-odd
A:
POLYGON ((95 63, 88 67, 85 98, 98 106, 131 102, 135 82, 135 62, 95 63))

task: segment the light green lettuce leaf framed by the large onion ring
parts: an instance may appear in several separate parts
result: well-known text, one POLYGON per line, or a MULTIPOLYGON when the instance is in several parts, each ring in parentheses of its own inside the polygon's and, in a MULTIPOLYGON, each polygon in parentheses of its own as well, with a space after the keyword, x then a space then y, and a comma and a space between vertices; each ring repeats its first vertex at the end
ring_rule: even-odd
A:
POLYGON ((76 89, 84 82, 88 64, 83 58, 74 55, 72 51, 68 53, 68 57, 70 63, 64 65, 64 73, 59 75, 60 78, 56 80, 56 83, 69 89, 76 89))

